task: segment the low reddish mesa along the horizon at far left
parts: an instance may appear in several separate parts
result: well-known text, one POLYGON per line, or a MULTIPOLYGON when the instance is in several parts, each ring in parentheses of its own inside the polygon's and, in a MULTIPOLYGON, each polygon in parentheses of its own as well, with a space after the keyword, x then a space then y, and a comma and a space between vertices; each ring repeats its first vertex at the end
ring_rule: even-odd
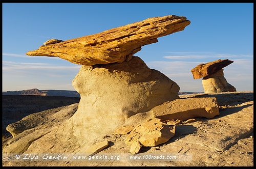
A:
POLYGON ((36 96, 66 96, 66 97, 80 97, 76 91, 67 90, 38 90, 29 89, 23 91, 7 91, 2 92, 2 95, 36 95, 36 96))

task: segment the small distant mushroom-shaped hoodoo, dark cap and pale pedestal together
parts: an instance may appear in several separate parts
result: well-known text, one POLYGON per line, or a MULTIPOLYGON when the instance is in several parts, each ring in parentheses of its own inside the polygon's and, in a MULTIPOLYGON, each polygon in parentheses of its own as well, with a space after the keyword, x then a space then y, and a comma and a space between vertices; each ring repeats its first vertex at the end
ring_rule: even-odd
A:
POLYGON ((236 92, 236 88, 230 85, 224 77, 224 67, 230 65, 233 61, 228 59, 217 60, 200 64, 191 70, 194 79, 203 77, 202 83, 204 93, 236 92))

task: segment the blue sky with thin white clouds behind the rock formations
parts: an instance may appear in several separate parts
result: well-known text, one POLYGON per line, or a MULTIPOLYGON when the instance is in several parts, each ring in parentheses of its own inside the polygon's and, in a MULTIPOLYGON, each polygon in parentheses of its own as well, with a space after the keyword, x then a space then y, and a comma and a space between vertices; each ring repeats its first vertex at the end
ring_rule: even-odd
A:
POLYGON ((186 16, 184 31, 158 38, 137 52, 148 67, 180 86, 203 92, 191 69, 229 59, 224 76, 237 91, 253 91, 253 3, 3 3, 2 90, 74 90, 81 65, 31 57, 48 39, 96 34, 150 17, 186 16))

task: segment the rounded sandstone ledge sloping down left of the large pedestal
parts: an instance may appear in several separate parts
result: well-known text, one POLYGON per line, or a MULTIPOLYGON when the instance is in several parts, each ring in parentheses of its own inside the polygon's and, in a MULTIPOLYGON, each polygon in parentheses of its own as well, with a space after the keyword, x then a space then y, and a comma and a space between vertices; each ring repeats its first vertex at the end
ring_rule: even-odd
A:
MULTIPOLYGON (((10 124, 7 130, 10 131, 13 137, 6 142, 3 147, 3 152, 24 153, 35 140, 59 128, 60 124, 69 120, 76 112, 77 107, 78 103, 75 103, 68 106, 44 110, 10 124)), ((44 148, 49 145, 53 144, 48 143, 44 148)))

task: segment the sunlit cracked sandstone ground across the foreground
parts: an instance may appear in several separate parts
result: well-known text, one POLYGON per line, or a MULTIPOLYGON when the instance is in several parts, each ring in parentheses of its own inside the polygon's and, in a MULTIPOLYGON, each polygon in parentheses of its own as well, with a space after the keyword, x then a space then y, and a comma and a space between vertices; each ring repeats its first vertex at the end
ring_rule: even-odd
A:
MULTIPOLYGON (((129 154, 131 149, 131 145, 125 144, 127 134, 109 133, 99 135, 92 140, 90 146, 108 141, 108 147, 96 155, 119 155, 119 160, 15 161, 5 158, 3 166, 253 166, 253 92, 189 94, 180 97, 215 97, 220 106, 220 114, 212 119, 198 117, 185 124, 179 123, 176 125, 175 135, 167 142, 155 147, 142 146, 137 154, 130 155, 185 154, 192 156, 191 161, 123 160, 122 155, 129 154)), ((66 113, 69 114, 68 111, 66 113)), ((27 154, 33 152, 75 155, 87 150, 90 146, 77 143, 75 137, 67 135, 63 140, 66 144, 62 145, 57 142, 57 137, 53 137, 51 132, 54 130, 51 127, 58 128, 66 120, 54 123, 49 128, 44 128, 46 124, 39 124, 37 128, 25 130, 14 138, 7 138, 3 142, 3 147, 6 146, 4 143, 15 144, 18 139, 27 137, 32 142, 26 151, 23 150, 23 153, 27 154), (29 136, 29 133, 34 134, 29 136), (32 136, 34 138, 31 138, 32 136), (46 139, 51 139, 51 142, 46 143, 46 139), (41 150, 36 150, 36 145, 40 145, 41 150)), ((57 132, 55 135, 57 136, 57 132)))

